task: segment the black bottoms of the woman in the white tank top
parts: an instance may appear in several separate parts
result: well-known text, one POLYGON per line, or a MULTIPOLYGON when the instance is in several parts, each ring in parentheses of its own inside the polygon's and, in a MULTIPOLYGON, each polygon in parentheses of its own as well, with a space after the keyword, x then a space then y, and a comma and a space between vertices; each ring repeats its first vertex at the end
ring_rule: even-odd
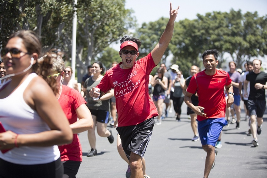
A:
POLYGON ((62 178, 61 159, 39 165, 18 165, 0 158, 0 178, 62 178))

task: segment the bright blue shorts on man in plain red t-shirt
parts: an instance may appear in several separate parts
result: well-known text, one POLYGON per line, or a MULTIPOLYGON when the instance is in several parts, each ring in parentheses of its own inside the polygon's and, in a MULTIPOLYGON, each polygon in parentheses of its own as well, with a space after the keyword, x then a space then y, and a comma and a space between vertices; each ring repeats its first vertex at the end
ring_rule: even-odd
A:
POLYGON ((224 117, 198 121, 198 131, 201 144, 212 145, 215 147, 222 128, 226 125, 227 121, 224 119, 224 117))

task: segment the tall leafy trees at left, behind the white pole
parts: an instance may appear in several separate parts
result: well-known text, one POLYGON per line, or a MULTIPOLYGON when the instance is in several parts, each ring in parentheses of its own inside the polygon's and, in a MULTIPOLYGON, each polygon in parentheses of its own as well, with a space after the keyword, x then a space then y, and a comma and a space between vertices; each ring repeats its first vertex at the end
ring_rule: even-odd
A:
MULTIPOLYGON (((125 0, 78 1, 75 7, 78 81, 98 53, 136 25, 133 11, 124 6, 125 0)), ((43 52, 59 48, 65 56, 71 56, 73 0, 0 0, 0 10, 0 49, 8 36, 24 29, 41 36, 43 52)))

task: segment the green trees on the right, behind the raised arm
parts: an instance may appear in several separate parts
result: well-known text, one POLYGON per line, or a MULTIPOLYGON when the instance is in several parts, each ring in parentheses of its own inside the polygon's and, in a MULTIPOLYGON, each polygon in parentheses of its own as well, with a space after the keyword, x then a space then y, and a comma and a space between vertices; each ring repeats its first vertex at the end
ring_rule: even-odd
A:
MULTIPOLYGON (((257 12, 241 13, 241 10, 227 12, 210 12, 197 14, 197 19, 184 19, 175 22, 171 43, 162 58, 173 54, 172 63, 179 65, 185 76, 189 75, 192 65, 202 67, 201 53, 207 49, 220 51, 219 66, 226 61, 229 53, 240 68, 251 57, 267 54, 267 16, 259 17, 257 12)), ((142 39, 142 52, 151 51, 159 41, 167 18, 144 23, 137 35, 142 39)))

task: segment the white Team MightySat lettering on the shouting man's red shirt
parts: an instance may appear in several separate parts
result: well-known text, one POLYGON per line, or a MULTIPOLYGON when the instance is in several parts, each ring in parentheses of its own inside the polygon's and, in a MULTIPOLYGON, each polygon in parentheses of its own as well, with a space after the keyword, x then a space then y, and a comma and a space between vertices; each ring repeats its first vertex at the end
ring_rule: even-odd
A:
POLYGON ((138 80, 137 82, 128 80, 120 84, 117 84, 114 89, 116 98, 133 91, 134 89, 140 86, 140 83, 141 83, 140 80, 138 80))

